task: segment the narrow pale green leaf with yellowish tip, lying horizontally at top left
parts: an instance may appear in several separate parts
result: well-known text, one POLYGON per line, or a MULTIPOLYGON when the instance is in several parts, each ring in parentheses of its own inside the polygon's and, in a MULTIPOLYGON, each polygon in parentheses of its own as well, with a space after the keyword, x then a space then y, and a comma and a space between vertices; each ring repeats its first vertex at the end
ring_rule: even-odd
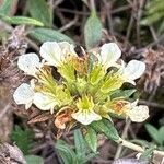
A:
POLYGON ((7 21, 11 24, 28 24, 28 25, 37 25, 37 26, 43 26, 44 24, 37 20, 31 19, 31 17, 25 17, 25 16, 5 16, 0 14, 0 17, 3 21, 7 21))

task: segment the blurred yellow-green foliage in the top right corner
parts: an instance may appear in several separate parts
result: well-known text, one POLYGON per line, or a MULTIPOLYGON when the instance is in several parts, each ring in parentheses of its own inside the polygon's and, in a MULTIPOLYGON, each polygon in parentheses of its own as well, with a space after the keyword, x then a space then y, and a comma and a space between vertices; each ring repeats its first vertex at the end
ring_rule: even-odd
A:
POLYGON ((164 1, 151 0, 148 2, 145 17, 141 21, 142 25, 151 25, 160 22, 160 32, 164 31, 164 1))

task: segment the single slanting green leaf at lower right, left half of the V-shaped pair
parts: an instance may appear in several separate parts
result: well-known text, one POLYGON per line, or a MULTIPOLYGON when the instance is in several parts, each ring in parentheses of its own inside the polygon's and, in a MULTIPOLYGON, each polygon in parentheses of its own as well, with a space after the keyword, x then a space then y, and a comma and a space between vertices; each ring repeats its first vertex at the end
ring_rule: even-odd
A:
POLYGON ((150 134, 150 137, 155 142, 157 142, 159 144, 161 144, 162 141, 159 138, 159 130, 155 127, 153 127, 152 125, 150 125, 150 124, 145 125, 145 129, 147 129, 148 133, 150 134))

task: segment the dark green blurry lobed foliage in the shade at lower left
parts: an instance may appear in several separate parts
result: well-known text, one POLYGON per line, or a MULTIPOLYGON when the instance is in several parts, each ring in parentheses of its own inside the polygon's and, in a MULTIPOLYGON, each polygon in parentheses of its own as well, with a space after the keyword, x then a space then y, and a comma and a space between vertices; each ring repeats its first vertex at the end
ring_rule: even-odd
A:
POLYGON ((20 126, 15 126, 12 132, 12 141, 21 149, 24 154, 28 154, 30 149, 33 144, 33 132, 32 130, 23 130, 20 126))

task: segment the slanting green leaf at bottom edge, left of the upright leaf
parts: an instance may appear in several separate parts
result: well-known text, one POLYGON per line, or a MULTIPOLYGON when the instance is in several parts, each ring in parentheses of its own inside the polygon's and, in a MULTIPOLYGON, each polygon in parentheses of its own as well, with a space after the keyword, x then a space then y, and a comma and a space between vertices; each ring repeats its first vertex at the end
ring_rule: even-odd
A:
POLYGON ((73 159, 75 159, 77 155, 66 142, 58 140, 55 144, 55 148, 57 149, 65 164, 73 163, 73 159))

